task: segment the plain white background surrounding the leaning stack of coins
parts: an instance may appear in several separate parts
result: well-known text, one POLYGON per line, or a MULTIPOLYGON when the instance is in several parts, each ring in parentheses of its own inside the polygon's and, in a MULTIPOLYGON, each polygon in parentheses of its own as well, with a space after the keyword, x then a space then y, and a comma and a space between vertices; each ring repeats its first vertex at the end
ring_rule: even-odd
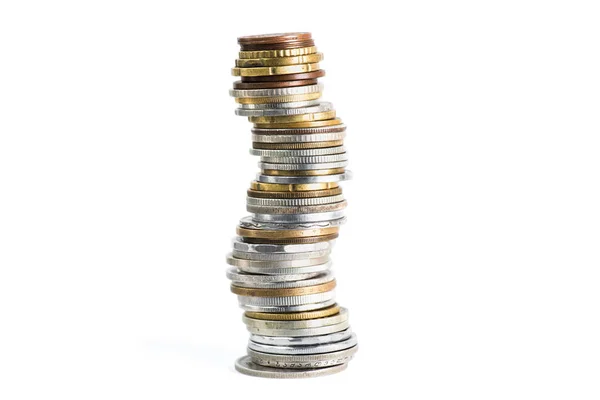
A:
POLYGON ((0 398, 598 399, 593 1, 0 3, 0 398), (360 351, 233 370, 257 171, 236 37, 310 31, 355 179, 360 351))

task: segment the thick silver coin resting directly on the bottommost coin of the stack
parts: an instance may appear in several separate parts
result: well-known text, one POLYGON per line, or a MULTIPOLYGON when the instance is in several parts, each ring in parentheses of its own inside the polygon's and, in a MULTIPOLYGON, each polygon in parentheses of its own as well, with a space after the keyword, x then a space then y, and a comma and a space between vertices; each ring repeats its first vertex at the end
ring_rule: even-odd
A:
POLYGON ((357 350, 358 346, 354 346, 332 353, 282 355, 262 353, 248 349, 248 355, 253 363, 264 365, 265 367, 303 369, 345 364, 352 359, 357 350))

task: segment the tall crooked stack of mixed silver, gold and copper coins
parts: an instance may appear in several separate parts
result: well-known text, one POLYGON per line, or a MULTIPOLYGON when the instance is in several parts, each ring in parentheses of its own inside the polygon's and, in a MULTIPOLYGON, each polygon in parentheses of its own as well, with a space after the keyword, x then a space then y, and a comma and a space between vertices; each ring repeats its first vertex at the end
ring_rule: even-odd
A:
POLYGON ((350 178, 346 126, 321 101, 325 75, 310 33, 238 38, 231 95, 254 124, 250 153, 260 157, 247 210, 228 255, 231 291, 245 310, 244 374, 327 375, 356 353, 348 310, 335 301, 329 255, 344 223, 339 182, 350 178))

